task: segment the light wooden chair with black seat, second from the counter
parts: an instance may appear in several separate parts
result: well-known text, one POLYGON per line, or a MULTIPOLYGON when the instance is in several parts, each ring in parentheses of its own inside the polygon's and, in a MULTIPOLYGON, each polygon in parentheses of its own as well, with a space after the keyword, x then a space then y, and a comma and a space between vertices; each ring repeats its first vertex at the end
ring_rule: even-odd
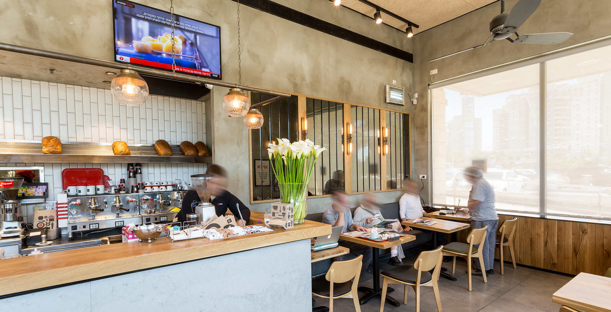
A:
POLYGON ((416 294, 416 312, 420 312, 420 286, 433 286, 433 293, 437 302, 437 311, 441 311, 441 298, 439 297, 439 273, 441 272, 442 248, 430 251, 420 252, 418 258, 414 261, 414 265, 403 264, 397 268, 392 268, 381 272, 384 277, 382 285, 382 302, 380 303, 380 312, 384 312, 384 302, 386 301, 386 289, 389 284, 402 284, 405 286, 403 294, 403 304, 408 303, 408 286, 414 288, 416 294), (433 270, 433 274, 431 274, 433 270))

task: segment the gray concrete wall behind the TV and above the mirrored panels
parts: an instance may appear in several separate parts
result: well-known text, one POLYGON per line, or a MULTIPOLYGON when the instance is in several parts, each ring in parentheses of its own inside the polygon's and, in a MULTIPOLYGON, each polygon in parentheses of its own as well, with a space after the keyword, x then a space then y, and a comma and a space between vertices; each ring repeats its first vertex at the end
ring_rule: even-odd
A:
MULTIPOLYGON (((362 35, 411 52, 411 40, 398 30, 375 25, 351 10, 326 0, 276 0, 280 4, 338 24, 362 35)), ((141 0, 141 4, 169 10, 169 1, 141 0)), ((221 26, 222 74, 238 80, 236 2, 184 0, 174 2, 175 13, 221 26)), ((0 41, 32 48, 112 60, 112 6, 109 0, 0 0, 3 31, 0 41)), ((412 112, 412 105, 384 104, 384 85, 397 80, 412 89, 412 64, 381 52, 326 35, 268 13, 241 5, 242 82, 247 85, 308 94, 335 101, 412 112)), ((211 140, 214 160, 232 173, 230 190, 249 198, 248 133, 241 118, 222 110, 226 88, 211 94, 211 140)), ((394 201, 400 192, 379 194, 394 201)), ((310 211, 328 207, 329 199, 309 200, 310 211)), ((355 198, 355 205, 356 205, 355 198)), ((253 207, 265 209, 269 204, 253 207)))

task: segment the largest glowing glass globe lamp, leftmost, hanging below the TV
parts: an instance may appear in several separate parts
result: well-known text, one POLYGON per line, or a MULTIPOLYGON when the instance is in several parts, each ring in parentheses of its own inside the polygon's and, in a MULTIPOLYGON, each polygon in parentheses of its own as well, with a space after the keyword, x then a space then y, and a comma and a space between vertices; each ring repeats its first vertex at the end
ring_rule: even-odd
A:
POLYGON ((147 101, 148 85, 137 71, 121 69, 121 73, 112 78, 111 92, 119 103, 137 106, 147 101))

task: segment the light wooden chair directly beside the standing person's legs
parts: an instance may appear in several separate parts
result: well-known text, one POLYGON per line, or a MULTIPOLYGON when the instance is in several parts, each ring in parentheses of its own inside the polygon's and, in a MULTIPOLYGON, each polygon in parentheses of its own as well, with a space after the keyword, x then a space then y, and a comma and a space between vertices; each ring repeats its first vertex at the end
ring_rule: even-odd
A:
POLYGON ((469 291, 471 291, 471 258, 480 258, 481 265, 481 276, 484 278, 484 283, 488 283, 486 279, 486 266, 484 265, 483 248, 484 241, 486 240, 486 229, 488 225, 481 229, 473 229, 467 236, 467 243, 452 242, 445 245, 444 256, 454 257, 452 261, 452 274, 456 271, 456 257, 463 257, 467 260, 467 274, 469 274, 469 291), (480 244, 479 247, 475 248, 474 245, 480 244))

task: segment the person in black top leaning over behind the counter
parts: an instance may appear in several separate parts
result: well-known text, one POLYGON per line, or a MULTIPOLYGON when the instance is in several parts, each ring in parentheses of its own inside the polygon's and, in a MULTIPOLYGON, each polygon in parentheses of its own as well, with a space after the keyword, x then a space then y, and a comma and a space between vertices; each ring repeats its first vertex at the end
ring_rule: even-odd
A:
MULTIPOLYGON (((240 213, 242 218, 247 222, 248 219, 251 218, 251 210, 246 207, 238 197, 235 197, 235 195, 225 190, 227 186, 227 171, 219 165, 211 165, 208 167, 206 174, 213 176, 213 178, 209 180, 210 182, 208 182, 208 188, 212 191, 210 204, 214 205, 216 215, 224 216, 227 213, 227 209, 229 209, 235 216, 238 226, 244 226, 245 224, 243 224, 240 219, 240 213), (240 213, 238 213, 238 206, 236 204, 240 205, 240 213)), ((176 215, 178 222, 185 222, 186 215, 194 212, 194 208, 191 207, 193 201, 199 202, 199 195, 197 195, 197 191, 189 190, 183 197, 183 207, 180 208, 180 211, 178 211, 176 215)))

